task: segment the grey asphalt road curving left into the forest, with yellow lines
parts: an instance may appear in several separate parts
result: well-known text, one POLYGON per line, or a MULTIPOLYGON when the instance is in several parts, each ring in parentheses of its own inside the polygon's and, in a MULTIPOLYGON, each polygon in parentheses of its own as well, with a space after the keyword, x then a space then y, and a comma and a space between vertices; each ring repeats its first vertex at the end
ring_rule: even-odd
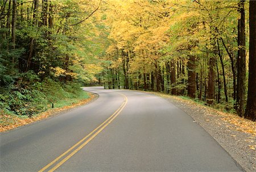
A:
POLYGON ((242 171, 165 99, 87 87, 94 102, 0 136, 0 171, 242 171))

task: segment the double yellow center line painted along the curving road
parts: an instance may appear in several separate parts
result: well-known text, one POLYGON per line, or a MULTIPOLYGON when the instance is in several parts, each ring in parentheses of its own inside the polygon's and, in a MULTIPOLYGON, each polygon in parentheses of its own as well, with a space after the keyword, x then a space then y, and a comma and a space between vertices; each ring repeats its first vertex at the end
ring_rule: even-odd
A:
MULTIPOLYGON (((119 93, 121 94, 121 93, 119 93)), ((49 169, 48 171, 54 171, 61 165, 63 165, 64 162, 66 162, 69 158, 71 158, 74 154, 79 152, 80 149, 82 149, 88 142, 93 140, 94 137, 98 135, 106 126, 108 126, 123 110, 123 108, 127 104, 127 97, 123 94, 121 94, 123 98, 125 98, 122 105, 112 114, 108 119, 106 119, 102 124, 100 124, 97 128, 95 128, 92 132, 89 133, 89 135, 82 138, 79 142, 77 142, 75 145, 73 145, 71 148, 69 148, 66 152, 61 154, 59 157, 57 157, 52 162, 48 163, 43 169, 39 170, 39 172, 45 171, 49 169)))

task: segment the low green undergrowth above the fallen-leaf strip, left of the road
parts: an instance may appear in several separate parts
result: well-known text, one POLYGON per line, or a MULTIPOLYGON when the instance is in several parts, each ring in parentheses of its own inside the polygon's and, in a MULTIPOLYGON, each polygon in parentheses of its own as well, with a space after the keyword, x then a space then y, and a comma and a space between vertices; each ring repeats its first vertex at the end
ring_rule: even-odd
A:
POLYGON ((26 73, 8 87, 0 87, 1 114, 33 116, 54 107, 68 106, 89 98, 76 82, 41 81, 38 75, 26 73))

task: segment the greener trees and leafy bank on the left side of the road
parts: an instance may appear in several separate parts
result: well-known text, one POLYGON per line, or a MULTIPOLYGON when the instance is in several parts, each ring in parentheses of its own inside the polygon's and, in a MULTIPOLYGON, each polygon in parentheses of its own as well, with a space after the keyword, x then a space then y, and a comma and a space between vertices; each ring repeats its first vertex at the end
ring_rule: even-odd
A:
POLYGON ((89 99, 81 86, 101 70, 104 27, 81 22, 98 2, 77 2, 0 1, 1 128, 89 99))

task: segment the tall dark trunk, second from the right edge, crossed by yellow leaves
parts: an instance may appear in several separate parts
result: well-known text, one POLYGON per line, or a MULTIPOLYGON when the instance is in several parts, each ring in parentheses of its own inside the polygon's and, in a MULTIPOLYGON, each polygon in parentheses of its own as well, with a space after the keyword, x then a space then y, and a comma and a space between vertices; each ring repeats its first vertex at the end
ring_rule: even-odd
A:
POLYGON ((237 58, 237 114, 243 116, 245 113, 245 9, 244 9, 245 0, 240 1, 240 28, 238 28, 238 58, 237 58))

